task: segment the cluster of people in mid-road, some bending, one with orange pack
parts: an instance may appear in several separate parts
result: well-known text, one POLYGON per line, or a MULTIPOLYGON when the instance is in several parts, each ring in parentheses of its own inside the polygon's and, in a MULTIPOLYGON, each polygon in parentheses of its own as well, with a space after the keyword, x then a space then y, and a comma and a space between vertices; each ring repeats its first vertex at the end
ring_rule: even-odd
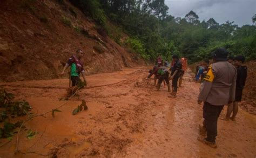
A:
POLYGON ((156 65, 153 67, 152 70, 149 71, 149 75, 146 79, 149 79, 154 75, 154 84, 156 85, 156 81, 158 80, 157 90, 160 90, 161 83, 167 84, 168 92, 171 92, 170 80, 172 80, 172 92, 169 97, 177 97, 178 91, 178 80, 179 80, 179 87, 182 86, 183 75, 187 68, 187 58, 181 58, 177 55, 172 56, 172 63, 169 66, 168 61, 166 60, 163 63, 163 59, 159 55, 156 60, 156 65))

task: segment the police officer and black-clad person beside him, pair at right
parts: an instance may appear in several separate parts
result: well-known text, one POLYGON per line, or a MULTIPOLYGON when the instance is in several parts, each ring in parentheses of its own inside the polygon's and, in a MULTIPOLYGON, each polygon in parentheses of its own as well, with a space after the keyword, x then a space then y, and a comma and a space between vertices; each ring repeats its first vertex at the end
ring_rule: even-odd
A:
POLYGON ((198 96, 198 104, 204 102, 204 121, 203 126, 199 126, 201 135, 198 140, 213 148, 217 148, 215 139, 219 115, 224 105, 228 105, 224 120, 235 119, 247 77, 247 67, 243 65, 245 57, 237 56, 230 61, 227 56, 228 51, 224 48, 212 52, 213 64, 208 67, 198 96))

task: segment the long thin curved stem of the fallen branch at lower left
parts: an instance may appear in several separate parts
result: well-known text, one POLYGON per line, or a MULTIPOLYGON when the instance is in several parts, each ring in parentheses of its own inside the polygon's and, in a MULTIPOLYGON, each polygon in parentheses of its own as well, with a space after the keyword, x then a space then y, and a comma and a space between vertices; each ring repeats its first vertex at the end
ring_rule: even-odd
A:
MULTIPOLYGON (((66 104, 68 103, 68 101, 69 101, 72 97, 74 97, 74 96, 76 95, 76 93, 77 93, 77 91, 78 91, 79 89, 80 89, 80 87, 77 88, 76 92, 73 93, 73 95, 71 95, 71 97, 70 97, 64 104, 62 104, 62 105, 60 105, 60 106, 58 106, 58 107, 56 107, 56 108, 54 108, 54 109, 59 109, 59 108, 63 107, 64 105, 66 105, 66 104)), ((21 126, 19 126, 19 130, 18 130, 18 133, 17 133, 15 154, 19 152, 19 150, 18 150, 18 147, 19 147, 19 133, 21 133, 21 129, 22 129, 23 125, 24 125, 26 122, 28 122, 28 121, 30 121, 31 119, 36 118, 36 117, 38 117, 38 116, 43 116, 43 117, 45 117, 44 115, 46 115, 46 114, 48 114, 48 113, 51 113, 52 110, 53 110, 53 109, 51 109, 51 110, 48 111, 48 112, 44 112, 44 113, 42 113, 42 114, 37 114, 37 115, 29 116, 28 119, 26 119, 25 121, 22 122, 21 126)), ((21 153, 22 153, 22 152, 21 152, 21 153)), ((31 152, 31 153, 33 153, 33 152, 31 152)), ((36 154, 36 153, 34 153, 34 154, 36 154)), ((42 156, 45 156, 45 155, 42 155, 42 156)))

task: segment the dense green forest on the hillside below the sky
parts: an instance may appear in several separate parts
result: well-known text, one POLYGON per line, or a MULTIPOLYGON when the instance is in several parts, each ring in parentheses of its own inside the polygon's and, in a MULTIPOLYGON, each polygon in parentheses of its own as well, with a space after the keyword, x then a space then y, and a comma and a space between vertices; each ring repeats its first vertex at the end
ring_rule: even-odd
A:
POLYGON ((242 54, 256 59, 256 15, 252 25, 239 27, 234 22, 219 24, 213 18, 200 21, 194 11, 185 17, 173 17, 164 0, 70 0, 118 44, 127 45, 144 59, 158 54, 186 56, 190 62, 210 58, 210 52, 225 47, 230 56, 242 54), (120 29, 111 30, 109 21, 120 29), (121 41, 119 32, 130 38, 121 41))

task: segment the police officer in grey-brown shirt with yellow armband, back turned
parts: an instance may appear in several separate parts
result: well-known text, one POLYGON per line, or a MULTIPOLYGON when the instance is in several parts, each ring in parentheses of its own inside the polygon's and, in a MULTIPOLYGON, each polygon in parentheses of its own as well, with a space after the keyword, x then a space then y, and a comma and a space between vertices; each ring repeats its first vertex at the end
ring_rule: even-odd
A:
POLYGON ((198 104, 204 101, 204 122, 200 129, 207 132, 206 138, 202 135, 198 140, 213 148, 217 148, 215 138, 220 112, 224 105, 235 100, 237 70, 227 62, 227 55, 228 52, 224 48, 212 52, 213 64, 209 66, 208 72, 205 74, 198 97, 198 104))

